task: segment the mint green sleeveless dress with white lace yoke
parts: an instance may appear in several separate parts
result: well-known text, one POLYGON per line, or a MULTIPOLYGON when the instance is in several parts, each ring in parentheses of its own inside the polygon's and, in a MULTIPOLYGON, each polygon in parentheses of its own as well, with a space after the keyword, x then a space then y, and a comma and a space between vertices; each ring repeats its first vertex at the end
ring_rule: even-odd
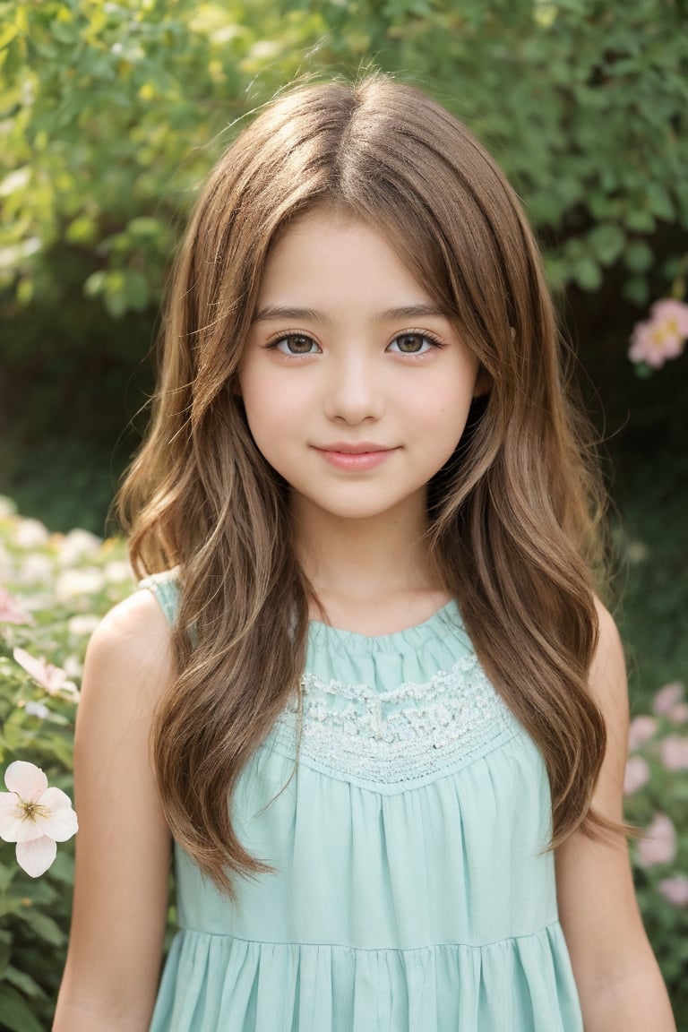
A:
MULTIPOLYGON (((174 620, 177 585, 142 582, 174 620)), ((455 603, 368 638, 313 621, 232 802, 274 873, 219 893, 175 845, 151 1032, 582 1032, 542 756, 455 603)))

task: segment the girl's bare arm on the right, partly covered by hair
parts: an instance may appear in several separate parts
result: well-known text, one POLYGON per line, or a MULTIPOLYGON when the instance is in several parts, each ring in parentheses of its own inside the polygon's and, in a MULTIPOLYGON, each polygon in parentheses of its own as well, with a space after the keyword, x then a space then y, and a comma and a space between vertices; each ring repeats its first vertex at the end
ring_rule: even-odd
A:
MULTIPOLYGON (((628 740, 623 649, 601 606, 590 688, 607 723, 607 754, 593 806, 622 818, 628 740)), ((585 1032, 676 1032, 671 1008, 643 928, 621 835, 591 840, 575 833, 556 854, 559 913, 579 989, 585 1032)))

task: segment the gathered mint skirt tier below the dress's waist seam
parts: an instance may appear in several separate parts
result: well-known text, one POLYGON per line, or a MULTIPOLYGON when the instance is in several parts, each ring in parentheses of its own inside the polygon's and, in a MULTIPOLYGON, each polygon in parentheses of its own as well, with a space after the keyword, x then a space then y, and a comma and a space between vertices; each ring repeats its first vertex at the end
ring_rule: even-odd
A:
POLYGON ((181 931, 152 1029, 167 1032, 570 1032, 557 925, 477 948, 245 942, 181 931))

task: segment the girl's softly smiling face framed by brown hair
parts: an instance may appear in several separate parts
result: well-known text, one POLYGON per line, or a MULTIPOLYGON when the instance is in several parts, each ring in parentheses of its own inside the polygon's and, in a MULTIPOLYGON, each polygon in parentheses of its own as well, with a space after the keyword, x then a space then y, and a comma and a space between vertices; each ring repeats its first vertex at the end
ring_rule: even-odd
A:
POLYGON ((265 266, 239 366, 254 440, 301 525, 402 514, 450 458, 478 362, 385 237, 337 212, 301 216, 265 266))

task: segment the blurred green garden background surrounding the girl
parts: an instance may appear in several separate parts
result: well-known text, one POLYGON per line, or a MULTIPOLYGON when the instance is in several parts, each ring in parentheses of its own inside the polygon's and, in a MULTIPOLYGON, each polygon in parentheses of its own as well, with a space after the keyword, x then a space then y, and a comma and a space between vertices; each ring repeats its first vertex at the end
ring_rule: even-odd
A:
MULTIPOLYGON (((88 635, 131 590, 106 513, 199 183, 236 120, 295 77, 393 71, 505 169, 578 355, 614 501, 628 816, 654 829, 634 871, 688 1030, 688 356, 628 358, 650 304, 686 295, 687 39, 685 0, 0 2, 3 768, 31 760, 71 793, 88 635), (27 672, 15 646, 52 667, 27 672)), ((2 1032, 50 1028, 72 852, 33 881, 0 843, 2 1032)))

